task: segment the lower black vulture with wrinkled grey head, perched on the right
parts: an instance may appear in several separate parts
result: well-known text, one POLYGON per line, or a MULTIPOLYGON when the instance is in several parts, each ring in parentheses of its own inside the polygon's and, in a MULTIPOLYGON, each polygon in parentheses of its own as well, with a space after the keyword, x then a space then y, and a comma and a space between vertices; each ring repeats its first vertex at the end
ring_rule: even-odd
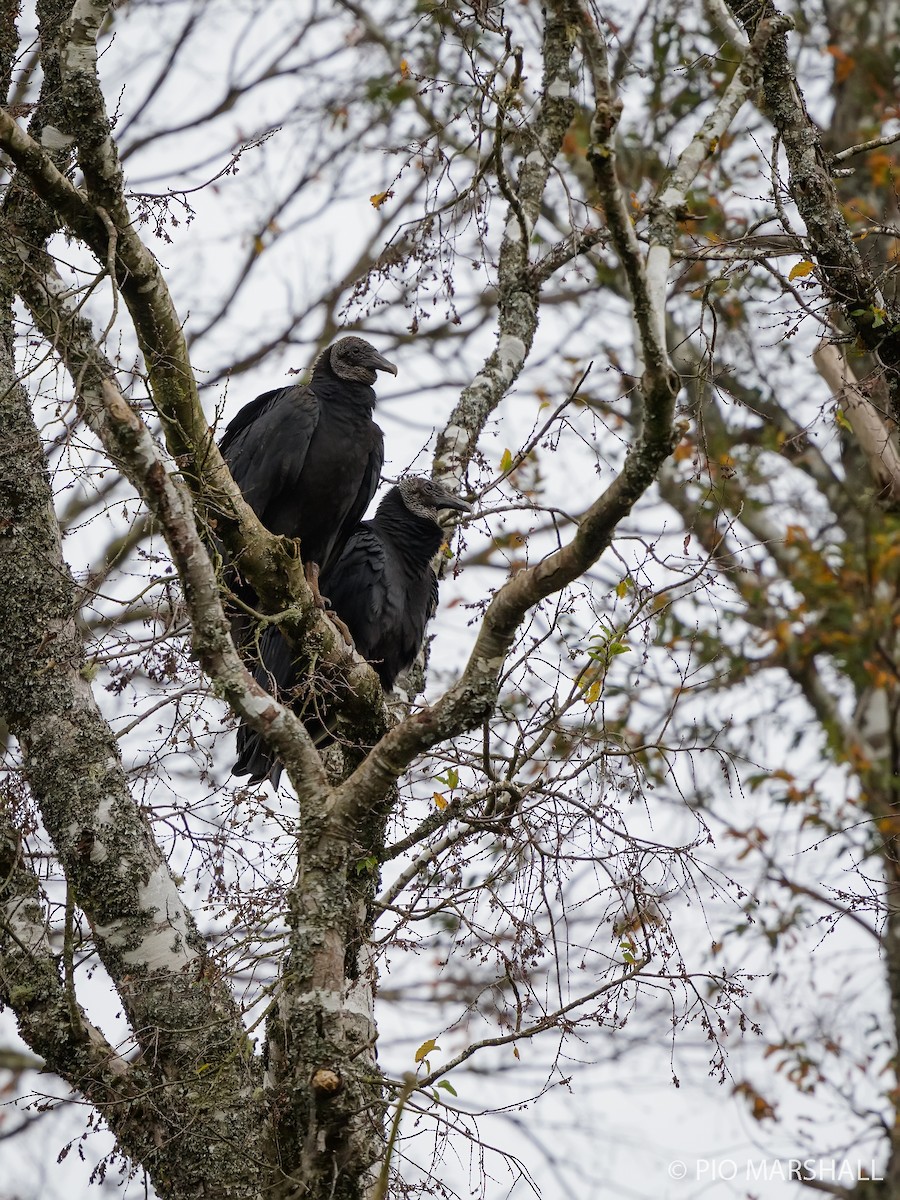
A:
MULTIPOLYGON (((322 576, 323 593, 385 691, 415 661, 425 625, 437 608, 438 581, 431 562, 444 536, 438 523, 442 509, 468 512, 469 505, 430 479, 410 475, 401 480, 372 520, 350 534, 340 559, 322 576)), ((260 638, 256 678, 282 700, 299 683, 290 647, 275 626, 260 638)), ((232 774, 250 775, 252 784, 269 776, 276 787, 281 776, 281 763, 246 725, 238 730, 232 774)))

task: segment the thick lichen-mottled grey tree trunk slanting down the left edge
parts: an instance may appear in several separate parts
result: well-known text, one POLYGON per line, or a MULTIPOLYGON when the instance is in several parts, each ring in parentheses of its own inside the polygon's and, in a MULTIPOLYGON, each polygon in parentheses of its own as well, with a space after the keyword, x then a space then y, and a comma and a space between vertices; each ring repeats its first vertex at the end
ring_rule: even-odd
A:
MULTIPOLYGON (((11 270, 8 262, 0 270, 0 287, 7 284, 0 328, 0 712, 18 738, 43 824, 116 983, 142 1049, 140 1069, 124 1070, 113 1056, 109 1072, 124 1075, 118 1094, 95 1093, 66 1042, 54 1050, 52 1010, 34 1024, 32 1049, 73 1086, 97 1094, 100 1111, 161 1194, 202 1195, 215 1178, 224 1196, 256 1195, 262 1175, 250 1151, 265 1120, 256 1098, 258 1064, 234 1000, 128 793, 115 738, 91 694, 77 590, 61 554, 40 437, 13 367, 11 270), (134 1109, 124 1105, 122 1097, 137 1093, 144 1080, 150 1098, 134 1109)), ((6 857, 20 870, 14 846, 6 857)), ((37 929, 35 888, 25 875, 22 881, 22 902, 7 905, 18 904, 16 912, 37 929)), ((12 881, 11 887, 14 893, 12 881)), ((53 997, 50 956, 17 936, 8 907, 5 942, 13 956, 31 947, 53 997)), ((16 978, 7 970, 7 997, 12 989, 18 1012, 23 996, 16 978)), ((84 1030, 71 1032, 82 1037, 84 1030)))

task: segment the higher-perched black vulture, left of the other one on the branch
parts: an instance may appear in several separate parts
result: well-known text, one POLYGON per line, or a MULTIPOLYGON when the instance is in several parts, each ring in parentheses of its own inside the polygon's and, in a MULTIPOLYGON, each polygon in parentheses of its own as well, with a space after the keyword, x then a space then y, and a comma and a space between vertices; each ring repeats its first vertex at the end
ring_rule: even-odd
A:
MULTIPOLYGON (((300 539, 313 589, 378 487, 384 437, 372 420, 378 371, 397 368, 361 337, 323 350, 308 384, 245 404, 218 444, 247 504, 272 533, 300 539)), ((240 593, 239 593, 240 594, 240 593)), ((253 602, 252 595, 244 595, 253 602)))

